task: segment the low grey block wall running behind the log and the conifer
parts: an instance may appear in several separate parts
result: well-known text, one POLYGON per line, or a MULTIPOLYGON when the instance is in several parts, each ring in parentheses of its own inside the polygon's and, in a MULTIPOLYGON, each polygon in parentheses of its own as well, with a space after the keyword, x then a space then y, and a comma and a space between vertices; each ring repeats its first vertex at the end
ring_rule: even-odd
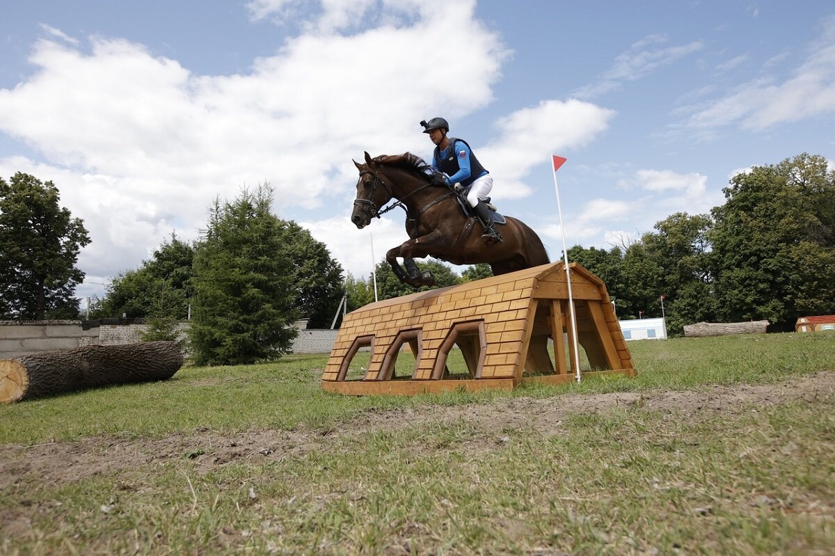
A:
MULTIPOLYGON (((304 326, 299 321, 297 326, 304 326)), ((13 359, 39 351, 66 350, 99 344, 120 346, 141 341, 147 328, 140 319, 101 319, 100 321, 0 321, 0 359, 13 359)), ((180 337, 185 338, 189 323, 180 322, 180 337)), ((337 340, 336 330, 299 330, 293 353, 330 353, 337 340)))

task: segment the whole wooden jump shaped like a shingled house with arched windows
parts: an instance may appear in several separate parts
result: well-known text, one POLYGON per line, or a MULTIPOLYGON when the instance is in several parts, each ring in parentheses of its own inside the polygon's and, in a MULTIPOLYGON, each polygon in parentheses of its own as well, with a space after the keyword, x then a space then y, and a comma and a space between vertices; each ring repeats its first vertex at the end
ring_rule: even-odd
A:
MULTIPOLYGON (((569 264, 569 272, 578 341, 590 367, 580 369, 581 374, 634 377, 603 281, 576 263, 569 264)), ((330 392, 365 396, 569 382, 577 371, 569 317, 561 262, 378 301, 345 316, 321 385, 330 392), (557 340, 554 361, 548 349, 552 338, 557 340), (398 377, 395 363, 406 344, 415 365, 411 374, 398 377), (461 350, 466 374, 449 372, 453 346, 461 350), (368 368, 351 380, 351 361, 363 347, 371 350, 368 368)))

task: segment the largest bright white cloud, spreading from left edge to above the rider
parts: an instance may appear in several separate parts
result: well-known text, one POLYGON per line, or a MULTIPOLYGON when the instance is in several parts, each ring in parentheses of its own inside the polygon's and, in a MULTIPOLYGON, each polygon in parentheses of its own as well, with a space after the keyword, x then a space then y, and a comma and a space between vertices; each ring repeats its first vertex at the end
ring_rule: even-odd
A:
MULTIPOLYGON (((43 161, 2 159, 0 171, 55 181, 93 237, 84 268, 100 276, 136 267, 172 230, 196 235, 215 196, 231 199, 245 185, 269 182, 280 216, 324 203, 350 210, 352 158, 426 149, 417 119, 492 100, 508 53, 473 6, 384 3, 415 19, 351 36, 301 34, 251 72, 225 76, 192 73, 123 39, 80 47, 45 27, 29 58, 35 72, 0 89, 0 131, 43 161), (438 43, 463 68, 443 80, 413 62, 438 43)), ((282 7, 291 3, 251 4, 262 17, 282 7)), ((340 3, 321 7, 311 21, 330 28, 356 16, 340 3)))

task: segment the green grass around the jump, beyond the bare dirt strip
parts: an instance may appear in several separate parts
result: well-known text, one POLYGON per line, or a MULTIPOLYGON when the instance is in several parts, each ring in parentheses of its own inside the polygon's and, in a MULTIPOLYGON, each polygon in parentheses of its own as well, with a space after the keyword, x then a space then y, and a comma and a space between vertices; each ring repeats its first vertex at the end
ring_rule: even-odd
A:
MULTIPOLYGON (((97 434, 158 436, 205 428, 331 427, 367 411, 425 404, 488 402, 496 397, 549 397, 564 392, 640 392, 716 384, 778 382, 835 369, 835 334, 775 334, 632 341, 638 376, 589 378, 579 385, 530 386, 515 392, 443 396, 343 397, 321 391, 327 356, 286 356, 251 366, 185 367, 167 382, 74 392, 0 406, 0 443, 35 444, 97 434)), ((398 357, 408 372, 410 354, 398 357), (402 361, 401 361, 402 360, 402 361)), ((367 366, 358 353, 352 367, 367 366)), ((463 361, 458 361, 464 369, 463 361)), ((453 370, 454 367, 452 367, 453 370)))

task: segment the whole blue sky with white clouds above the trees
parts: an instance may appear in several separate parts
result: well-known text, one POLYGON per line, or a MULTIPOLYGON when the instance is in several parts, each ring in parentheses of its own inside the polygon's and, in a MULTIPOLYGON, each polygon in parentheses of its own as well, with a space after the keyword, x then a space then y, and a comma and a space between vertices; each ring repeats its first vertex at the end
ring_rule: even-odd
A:
MULTIPOLYGON (((0 177, 51 180, 92 240, 76 294, 104 296, 215 199, 273 211, 368 278, 407 240, 350 221, 353 159, 425 159, 441 116, 493 203, 562 256, 610 249, 729 179, 835 161, 835 4, 515 0, 0 0, 0 177)), ((462 267, 453 267, 463 270, 462 267)), ((83 308, 83 304, 82 304, 83 308)))

